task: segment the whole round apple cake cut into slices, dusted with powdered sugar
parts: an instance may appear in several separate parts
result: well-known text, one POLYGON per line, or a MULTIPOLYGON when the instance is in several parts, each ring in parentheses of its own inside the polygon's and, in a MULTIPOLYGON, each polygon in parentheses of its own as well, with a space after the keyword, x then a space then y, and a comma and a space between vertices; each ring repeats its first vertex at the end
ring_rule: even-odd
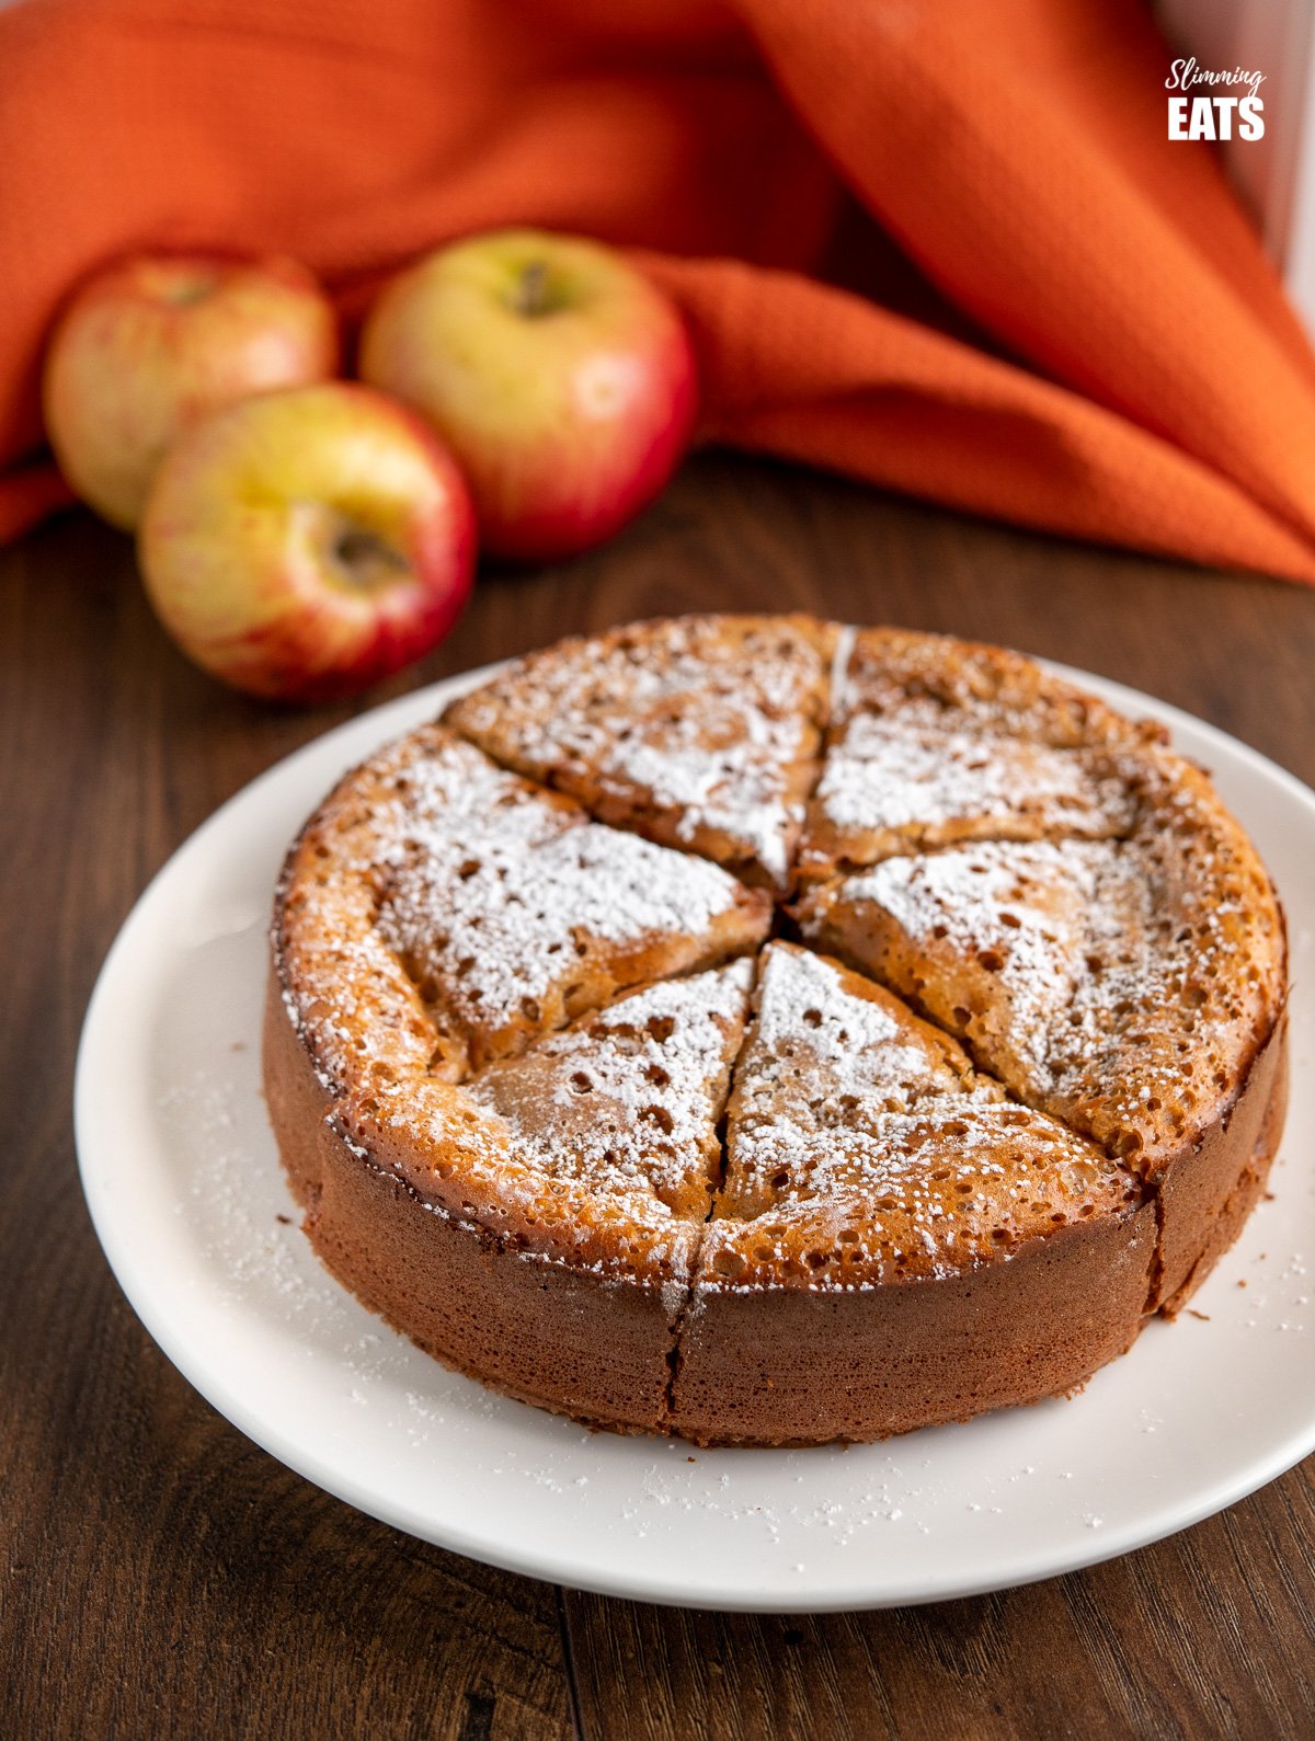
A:
POLYGON ((1069 1393, 1264 1189, 1282 911, 1207 775, 1017 653, 690 616, 348 773, 265 1086, 327 1267, 524 1402, 698 1443, 1069 1393))

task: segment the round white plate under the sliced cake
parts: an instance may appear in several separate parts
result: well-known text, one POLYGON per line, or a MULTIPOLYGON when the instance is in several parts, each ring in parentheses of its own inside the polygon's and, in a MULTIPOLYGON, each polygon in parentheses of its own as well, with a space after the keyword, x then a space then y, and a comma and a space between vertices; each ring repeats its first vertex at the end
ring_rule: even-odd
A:
POLYGON ((587 1590, 857 1609, 1049 1577, 1231 1504, 1315 1447, 1315 794, 1150 696, 1214 768, 1287 904, 1292 1109, 1273 1201, 1193 1301, 1082 1396, 885 1445, 691 1450, 589 1433, 428 1360, 320 1269, 260 1097, 280 855, 336 776, 477 674, 310 743, 155 877, 101 971, 77 1072, 96 1231, 169 1358, 282 1462, 413 1536, 587 1590))

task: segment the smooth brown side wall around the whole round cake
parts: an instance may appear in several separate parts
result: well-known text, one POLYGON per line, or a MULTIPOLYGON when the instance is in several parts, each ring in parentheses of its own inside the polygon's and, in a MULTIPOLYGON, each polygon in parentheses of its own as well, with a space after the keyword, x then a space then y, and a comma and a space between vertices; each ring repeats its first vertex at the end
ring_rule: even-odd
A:
POLYGON ((1176 1191, 1059 1229, 1008 1262, 855 1292, 695 1285, 674 1302, 671 1288, 500 1247, 334 1128, 334 1095, 296 1034, 277 966, 263 1079, 317 1257, 449 1368, 618 1433, 698 1445, 869 1442, 1071 1395, 1132 1346, 1150 1314, 1184 1307, 1264 1191, 1287 1099, 1287 1017, 1205 1139, 1167 1172, 1176 1191), (1174 1255, 1162 1264, 1167 1243, 1174 1255), (1014 1349, 1003 1363, 1001 1323, 1014 1349), (803 1367, 799 1348, 810 1349, 803 1367))

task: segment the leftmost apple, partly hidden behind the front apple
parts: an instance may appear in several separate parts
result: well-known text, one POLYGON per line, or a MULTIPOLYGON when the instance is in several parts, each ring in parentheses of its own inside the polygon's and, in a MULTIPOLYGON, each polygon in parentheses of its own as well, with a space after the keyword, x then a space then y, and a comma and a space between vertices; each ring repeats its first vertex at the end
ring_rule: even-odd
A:
POLYGON ((336 367, 333 305, 296 261, 143 254, 91 279, 56 326, 45 430, 73 491, 131 531, 185 428, 336 367))

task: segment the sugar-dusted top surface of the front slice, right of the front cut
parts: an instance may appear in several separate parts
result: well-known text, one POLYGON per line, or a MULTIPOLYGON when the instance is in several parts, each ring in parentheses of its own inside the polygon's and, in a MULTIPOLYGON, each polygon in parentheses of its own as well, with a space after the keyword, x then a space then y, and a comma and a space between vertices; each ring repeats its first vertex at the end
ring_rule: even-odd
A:
POLYGON ((1137 1194, 1123 1168, 1010 1102, 888 991, 768 944, 705 1280, 946 1276, 1137 1194))

